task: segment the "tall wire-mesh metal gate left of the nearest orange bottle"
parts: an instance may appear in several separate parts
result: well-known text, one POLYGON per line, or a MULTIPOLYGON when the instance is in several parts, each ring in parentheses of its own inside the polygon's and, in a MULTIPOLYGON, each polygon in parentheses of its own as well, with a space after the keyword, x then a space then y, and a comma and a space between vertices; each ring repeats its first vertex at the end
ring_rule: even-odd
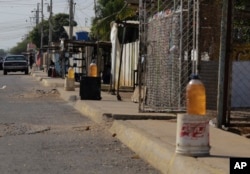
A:
POLYGON ((140 0, 139 111, 185 110, 198 62, 198 10, 198 0, 140 0))

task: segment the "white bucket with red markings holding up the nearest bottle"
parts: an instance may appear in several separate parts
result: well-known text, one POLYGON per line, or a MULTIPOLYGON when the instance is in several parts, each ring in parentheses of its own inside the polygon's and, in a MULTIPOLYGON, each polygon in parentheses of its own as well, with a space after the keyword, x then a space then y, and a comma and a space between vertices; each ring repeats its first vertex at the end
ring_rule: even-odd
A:
POLYGON ((209 119, 200 115, 178 114, 176 153, 207 156, 209 151, 209 119))

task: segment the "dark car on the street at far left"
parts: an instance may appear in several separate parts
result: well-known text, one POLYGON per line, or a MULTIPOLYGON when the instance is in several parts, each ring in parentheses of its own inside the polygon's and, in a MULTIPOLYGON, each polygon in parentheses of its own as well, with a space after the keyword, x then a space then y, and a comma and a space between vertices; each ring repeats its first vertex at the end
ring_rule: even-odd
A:
POLYGON ((28 60, 23 55, 9 55, 3 61, 3 74, 8 72, 22 71, 25 74, 29 73, 28 60))

